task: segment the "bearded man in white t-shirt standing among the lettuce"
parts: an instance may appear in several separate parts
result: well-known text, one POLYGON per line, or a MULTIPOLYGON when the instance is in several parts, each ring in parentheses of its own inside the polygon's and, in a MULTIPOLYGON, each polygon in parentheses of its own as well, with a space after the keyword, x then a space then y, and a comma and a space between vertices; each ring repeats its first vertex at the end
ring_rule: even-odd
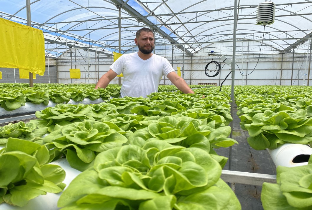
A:
POLYGON ((183 93, 194 93, 179 77, 166 58, 153 54, 154 33, 149 28, 141 28, 135 33, 134 42, 139 52, 124 54, 118 58, 95 85, 106 88, 117 75, 123 74, 124 81, 120 90, 120 97, 146 97, 158 91, 162 76, 168 79, 183 93))

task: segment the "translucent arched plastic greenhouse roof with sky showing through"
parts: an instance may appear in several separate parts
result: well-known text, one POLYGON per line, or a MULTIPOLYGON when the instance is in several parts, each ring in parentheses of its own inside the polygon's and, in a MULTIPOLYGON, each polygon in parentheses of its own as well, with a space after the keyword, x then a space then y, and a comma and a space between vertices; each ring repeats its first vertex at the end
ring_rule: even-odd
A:
MULTIPOLYGON (((0 0, 2 18, 27 23, 27 0, 0 0)), ((256 25, 259 1, 239 0, 236 50, 243 53, 307 52, 312 37, 312 1, 276 0, 275 22, 256 25), (263 40, 263 43, 262 43, 263 40), (261 45, 262 43, 262 45, 261 45)), ((264 1, 263 1, 264 2, 264 1)), ((156 32, 156 49, 176 56, 214 50, 232 53, 234 0, 30 0, 32 27, 43 30, 46 53, 58 57, 69 48, 111 55, 135 49, 135 32, 156 32), (119 25, 119 7, 121 23, 119 25), (119 37, 119 27, 121 30, 119 37)), ((157 53, 158 54, 158 53, 157 53)))

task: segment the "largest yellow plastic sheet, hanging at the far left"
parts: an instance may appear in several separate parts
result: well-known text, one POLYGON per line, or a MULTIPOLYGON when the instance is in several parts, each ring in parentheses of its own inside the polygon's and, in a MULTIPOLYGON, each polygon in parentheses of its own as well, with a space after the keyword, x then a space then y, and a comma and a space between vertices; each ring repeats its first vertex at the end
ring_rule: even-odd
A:
POLYGON ((0 18, 0 67, 21 68, 43 76, 46 69, 42 30, 0 18))

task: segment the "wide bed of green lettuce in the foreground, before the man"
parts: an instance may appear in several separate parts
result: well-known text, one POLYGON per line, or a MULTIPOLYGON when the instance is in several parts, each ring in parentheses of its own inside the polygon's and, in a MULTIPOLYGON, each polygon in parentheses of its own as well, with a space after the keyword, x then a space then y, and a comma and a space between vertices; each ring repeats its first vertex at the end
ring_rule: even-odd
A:
POLYGON ((196 91, 58 104, 29 123, 0 127, 0 176, 10 177, 0 185, 0 203, 23 206, 60 192, 64 171, 47 163, 66 157, 82 173, 58 200, 64 210, 241 209, 220 179, 227 158, 213 150, 237 143, 228 138, 230 97, 196 91), (37 161, 25 163, 26 157, 37 161))

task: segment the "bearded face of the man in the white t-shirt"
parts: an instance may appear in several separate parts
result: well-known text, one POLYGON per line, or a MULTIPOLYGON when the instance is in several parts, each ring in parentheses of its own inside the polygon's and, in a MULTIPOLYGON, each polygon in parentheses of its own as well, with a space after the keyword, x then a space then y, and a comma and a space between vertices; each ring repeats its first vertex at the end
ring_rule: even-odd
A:
POLYGON ((154 50, 154 35, 152 32, 142 31, 139 38, 135 38, 134 41, 143 54, 150 54, 154 50))

